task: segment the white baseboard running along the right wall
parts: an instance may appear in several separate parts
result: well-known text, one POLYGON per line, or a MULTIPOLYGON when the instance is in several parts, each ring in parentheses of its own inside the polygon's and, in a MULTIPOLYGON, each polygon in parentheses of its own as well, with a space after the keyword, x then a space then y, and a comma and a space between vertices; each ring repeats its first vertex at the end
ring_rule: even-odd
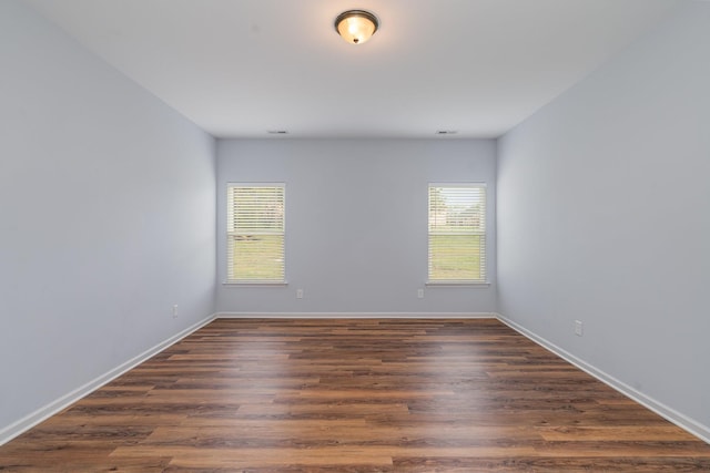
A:
POLYGON ((555 343, 550 342, 549 340, 547 340, 547 339, 545 339, 545 338, 531 332, 530 330, 528 330, 525 327, 514 322, 513 320, 501 316, 500 313, 496 313, 496 317, 503 323, 507 325, 508 327, 510 327, 511 329, 514 329, 518 333, 523 335, 524 337, 526 337, 526 338, 530 339, 531 341, 536 342, 537 345, 548 349, 549 351, 551 351, 552 353, 557 354, 558 357, 569 361, 575 367, 577 367, 580 370, 585 371, 586 373, 595 377, 599 381, 601 381, 605 384, 609 385, 610 388, 619 391, 623 395, 626 395, 628 398, 631 398, 632 400, 635 400, 639 404, 646 407, 647 409, 650 409, 651 411, 656 412, 658 415, 662 417, 663 419, 668 420, 669 422, 672 422, 673 424, 676 424, 679 428, 681 428, 681 429, 688 431, 689 433, 696 435, 697 438, 701 439, 702 441, 704 441, 707 443, 710 443, 710 426, 703 425, 700 422, 697 422, 697 421, 690 419, 689 417, 676 411, 674 409, 669 408, 668 405, 663 404, 662 402, 659 402, 659 401, 655 400, 653 398, 650 398, 650 397, 637 391, 636 389, 633 389, 632 387, 628 385, 627 383, 625 383, 622 381, 619 381, 618 379, 616 379, 611 374, 608 374, 605 371, 602 371, 602 370, 600 370, 600 369, 587 363, 586 361, 575 357, 574 354, 571 354, 567 350, 564 350, 564 349, 559 348, 558 346, 556 346, 555 343))

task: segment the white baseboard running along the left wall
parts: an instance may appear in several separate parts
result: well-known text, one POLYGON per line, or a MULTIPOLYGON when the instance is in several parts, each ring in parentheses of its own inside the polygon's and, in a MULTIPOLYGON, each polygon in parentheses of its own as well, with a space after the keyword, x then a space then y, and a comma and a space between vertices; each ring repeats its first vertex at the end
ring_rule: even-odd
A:
POLYGON ((89 381, 84 385, 77 388, 75 390, 57 399, 55 401, 52 401, 49 404, 38 409, 37 411, 26 415, 19 421, 3 428, 2 430, 0 430, 0 445, 8 443, 16 436, 32 429, 34 425, 39 424, 40 422, 43 422, 44 420, 51 418, 52 415, 61 412, 62 410, 67 409, 74 402, 84 398, 85 395, 92 393, 93 391, 101 388, 102 385, 108 384, 109 382, 113 381, 121 374, 141 364, 143 361, 163 351, 165 348, 170 347, 171 345, 182 340, 183 338, 187 337, 190 333, 210 323, 212 320, 214 320, 214 318, 215 318, 215 315, 213 313, 206 317, 205 319, 199 321, 197 323, 191 327, 187 327, 186 329, 182 330, 180 333, 176 333, 170 337, 169 339, 158 343, 156 346, 145 350, 141 354, 131 358, 130 360, 115 367, 111 371, 89 381))

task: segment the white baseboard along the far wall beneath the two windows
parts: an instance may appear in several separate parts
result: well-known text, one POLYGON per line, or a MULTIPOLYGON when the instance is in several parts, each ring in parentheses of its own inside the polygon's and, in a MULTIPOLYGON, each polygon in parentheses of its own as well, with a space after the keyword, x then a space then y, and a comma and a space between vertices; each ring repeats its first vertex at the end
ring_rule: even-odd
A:
POLYGON ((217 312, 217 319, 495 319, 495 312, 217 312))

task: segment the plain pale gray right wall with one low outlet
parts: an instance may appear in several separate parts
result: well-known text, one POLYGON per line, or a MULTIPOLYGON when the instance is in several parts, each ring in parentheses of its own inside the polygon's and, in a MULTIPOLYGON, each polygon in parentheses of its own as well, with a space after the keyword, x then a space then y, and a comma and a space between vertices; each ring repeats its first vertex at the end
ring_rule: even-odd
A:
POLYGON ((503 315, 707 436, 709 25, 689 2, 505 135, 498 165, 503 315))

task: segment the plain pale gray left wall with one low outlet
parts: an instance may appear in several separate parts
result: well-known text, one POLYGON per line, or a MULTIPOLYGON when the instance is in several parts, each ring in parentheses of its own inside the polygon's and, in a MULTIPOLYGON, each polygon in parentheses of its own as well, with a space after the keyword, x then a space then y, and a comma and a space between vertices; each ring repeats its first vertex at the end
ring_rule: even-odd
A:
POLYGON ((16 1, 0 69, 1 433, 214 311, 215 165, 212 137, 16 1))

